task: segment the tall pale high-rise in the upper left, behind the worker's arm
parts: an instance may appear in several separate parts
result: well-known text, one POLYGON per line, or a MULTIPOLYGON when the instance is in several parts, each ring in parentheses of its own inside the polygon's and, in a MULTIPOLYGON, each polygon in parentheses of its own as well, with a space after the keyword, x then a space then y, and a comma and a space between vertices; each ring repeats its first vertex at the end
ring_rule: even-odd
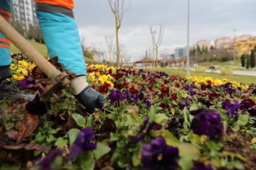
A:
POLYGON ((23 31, 29 26, 39 26, 34 0, 12 0, 12 20, 20 22, 23 31))

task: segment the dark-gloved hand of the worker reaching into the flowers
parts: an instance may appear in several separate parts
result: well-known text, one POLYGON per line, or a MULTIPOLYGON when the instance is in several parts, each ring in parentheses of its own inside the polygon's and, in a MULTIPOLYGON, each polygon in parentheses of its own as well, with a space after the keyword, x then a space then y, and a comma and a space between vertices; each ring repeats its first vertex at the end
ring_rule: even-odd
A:
POLYGON ((104 104, 107 103, 107 100, 104 98, 104 96, 91 88, 89 85, 84 88, 78 95, 74 96, 80 104, 86 107, 86 110, 89 112, 89 114, 93 113, 95 108, 102 109, 104 104))

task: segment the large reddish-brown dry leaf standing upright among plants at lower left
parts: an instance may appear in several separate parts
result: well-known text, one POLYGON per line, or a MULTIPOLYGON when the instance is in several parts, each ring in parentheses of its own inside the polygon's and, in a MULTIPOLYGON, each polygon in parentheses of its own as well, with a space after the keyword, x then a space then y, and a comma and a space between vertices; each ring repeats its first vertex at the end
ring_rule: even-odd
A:
POLYGON ((39 124, 39 116, 28 113, 23 118, 23 121, 20 125, 18 136, 17 136, 17 144, 19 144, 22 141, 22 139, 26 138, 27 136, 30 136, 34 132, 34 130, 37 128, 38 124, 39 124))

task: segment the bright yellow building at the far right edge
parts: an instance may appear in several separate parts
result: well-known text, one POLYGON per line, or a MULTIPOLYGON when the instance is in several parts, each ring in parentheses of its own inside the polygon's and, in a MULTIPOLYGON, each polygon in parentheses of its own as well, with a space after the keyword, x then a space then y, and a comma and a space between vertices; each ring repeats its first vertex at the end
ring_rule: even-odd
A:
POLYGON ((236 56, 240 58, 243 54, 249 55, 255 46, 256 39, 254 38, 236 42, 236 56))

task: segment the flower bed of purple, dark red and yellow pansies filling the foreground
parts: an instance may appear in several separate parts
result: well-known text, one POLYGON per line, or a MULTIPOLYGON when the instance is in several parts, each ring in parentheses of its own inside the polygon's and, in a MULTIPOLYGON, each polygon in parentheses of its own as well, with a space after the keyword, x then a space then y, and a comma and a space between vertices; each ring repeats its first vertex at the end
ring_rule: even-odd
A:
MULTIPOLYGON (((18 72, 26 63, 13 63, 13 77, 23 74, 18 85, 42 93, 32 71, 18 72)), ((87 114, 69 88, 28 104, 0 101, 1 169, 255 168, 255 85, 93 64, 87 71, 108 109, 87 114)))

